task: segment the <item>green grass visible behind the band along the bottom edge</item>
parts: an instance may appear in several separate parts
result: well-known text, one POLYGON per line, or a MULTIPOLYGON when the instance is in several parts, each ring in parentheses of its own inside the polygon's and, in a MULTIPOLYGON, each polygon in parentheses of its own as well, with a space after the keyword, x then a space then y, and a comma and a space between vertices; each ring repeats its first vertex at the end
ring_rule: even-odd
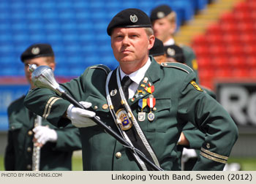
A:
MULTIPOLYGON (((256 158, 229 158, 228 163, 236 162, 241 164, 241 169, 244 171, 256 171, 256 158)), ((72 170, 82 171, 83 164, 80 156, 73 156, 72 170)), ((0 171, 4 171, 4 157, 0 156, 0 171)))

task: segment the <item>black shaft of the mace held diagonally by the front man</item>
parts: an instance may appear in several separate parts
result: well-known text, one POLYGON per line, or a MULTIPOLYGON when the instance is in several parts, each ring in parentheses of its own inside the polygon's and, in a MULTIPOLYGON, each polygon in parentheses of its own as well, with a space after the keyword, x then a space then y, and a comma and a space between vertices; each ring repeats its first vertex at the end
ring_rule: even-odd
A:
MULTIPOLYGON (((73 104, 75 107, 79 107, 83 110, 85 110, 86 108, 83 107, 82 104, 79 104, 78 101, 76 101, 75 99, 72 98, 72 96, 69 96, 69 94, 67 94, 66 92, 61 93, 61 97, 63 97, 64 99, 67 99, 67 101, 69 101, 71 104, 73 104)), ((99 118, 94 117, 92 118, 95 123, 97 123, 99 126, 102 126, 103 129, 105 129, 105 131, 110 134, 112 137, 114 137, 115 139, 118 140, 118 142, 120 142, 122 145, 125 145, 129 148, 131 148, 131 145, 129 144, 129 142, 127 142, 123 137, 119 136, 119 134, 116 134, 116 131, 113 131, 113 129, 111 129, 109 126, 107 126, 105 123, 102 122, 102 120, 99 120, 99 118)), ((132 149, 132 151, 135 151, 138 156, 140 156, 140 158, 146 162, 146 164, 148 164, 149 166, 151 166, 152 169, 156 170, 156 171, 163 171, 162 168, 160 168, 159 166, 157 166, 156 164, 154 164, 153 162, 151 162, 150 160, 148 160, 148 158, 146 158, 145 155, 143 155, 142 152, 136 150, 136 149, 132 149)))

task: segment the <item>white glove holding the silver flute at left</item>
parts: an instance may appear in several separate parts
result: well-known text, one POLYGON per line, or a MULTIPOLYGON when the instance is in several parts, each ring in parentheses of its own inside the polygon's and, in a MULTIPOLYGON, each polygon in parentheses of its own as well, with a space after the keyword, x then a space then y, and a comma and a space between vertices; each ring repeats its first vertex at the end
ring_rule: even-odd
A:
POLYGON ((58 135, 55 130, 50 129, 48 126, 37 126, 33 129, 34 138, 37 139, 39 144, 45 145, 46 142, 56 142, 58 135))

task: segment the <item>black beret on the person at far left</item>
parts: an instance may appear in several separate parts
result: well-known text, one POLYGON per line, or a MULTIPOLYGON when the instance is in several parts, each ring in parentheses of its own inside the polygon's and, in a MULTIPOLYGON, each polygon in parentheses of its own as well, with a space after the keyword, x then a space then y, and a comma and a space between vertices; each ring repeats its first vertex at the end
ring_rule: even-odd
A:
POLYGON ((24 62, 26 59, 54 56, 53 49, 48 44, 34 44, 29 46, 21 55, 20 60, 24 62))

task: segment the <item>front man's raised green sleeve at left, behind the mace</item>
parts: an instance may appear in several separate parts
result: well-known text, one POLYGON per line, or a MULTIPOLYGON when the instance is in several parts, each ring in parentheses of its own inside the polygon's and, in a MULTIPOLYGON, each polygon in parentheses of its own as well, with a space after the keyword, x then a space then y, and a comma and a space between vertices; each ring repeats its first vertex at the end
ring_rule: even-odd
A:
MULTIPOLYGON (((75 78, 68 83, 61 84, 61 88, 69 93, 69 95, 72 96, 72 98, 74 98, 76 101, 87 99, 89 95, 105 96, 105 94, 95 90, 95 88, 104 89, 105 84, 98 83, 98 80, 86 80, 87 74, 95 79, 101 80, 102 78, 105 81, 105 77, 108 74, 108 68, 102 65, 91 66, 87 68, 80 77, 75 78), (88 88, 85 88, 85 86, 88 88), (91 91, 97 92, 95 92, 96 94, 91 94, 91 91)), ((64 127, 70 123, 68 118, 63 118, 63 115, 66 113, 70 102, 62 99, 61 96, 47 88, 35 88, 29 91, 24 100, 24 104, 29 110, 37 115, 41 115, 42 118, 45 118, 54 126, 64 127)))

